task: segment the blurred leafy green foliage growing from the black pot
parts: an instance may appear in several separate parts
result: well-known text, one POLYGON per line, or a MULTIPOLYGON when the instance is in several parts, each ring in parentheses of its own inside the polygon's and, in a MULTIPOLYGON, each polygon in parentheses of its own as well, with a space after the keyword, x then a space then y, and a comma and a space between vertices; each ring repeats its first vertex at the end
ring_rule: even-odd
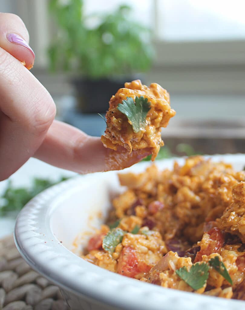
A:
POLYGON ((98 79, 150 68, 150 30, 133 20, 129 6, 85 16, 83 0, 50 0, 49 10, 58 28, 48 49, 52 71, 73 70, 98 79))

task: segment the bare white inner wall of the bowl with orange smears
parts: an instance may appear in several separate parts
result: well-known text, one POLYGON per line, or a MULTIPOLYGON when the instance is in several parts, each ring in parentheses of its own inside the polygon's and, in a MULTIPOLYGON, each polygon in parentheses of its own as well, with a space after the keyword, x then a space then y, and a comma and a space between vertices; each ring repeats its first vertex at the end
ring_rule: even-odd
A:
POLYGON ((116 174, 98 174, 55 199, 50 229, 63 246, 79 255, 88 238, 106 221, 112 198, 122 191, 116 174))

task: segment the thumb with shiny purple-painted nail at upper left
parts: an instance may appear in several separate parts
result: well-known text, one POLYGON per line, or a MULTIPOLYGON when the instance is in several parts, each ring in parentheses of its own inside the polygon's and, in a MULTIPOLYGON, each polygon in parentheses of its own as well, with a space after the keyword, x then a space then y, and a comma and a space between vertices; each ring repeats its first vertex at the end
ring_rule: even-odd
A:
POLYGON ((0 47, 31 69, 35 54, 28 42, 29 34, 21 18, 15 14, 0 13, 0 47))

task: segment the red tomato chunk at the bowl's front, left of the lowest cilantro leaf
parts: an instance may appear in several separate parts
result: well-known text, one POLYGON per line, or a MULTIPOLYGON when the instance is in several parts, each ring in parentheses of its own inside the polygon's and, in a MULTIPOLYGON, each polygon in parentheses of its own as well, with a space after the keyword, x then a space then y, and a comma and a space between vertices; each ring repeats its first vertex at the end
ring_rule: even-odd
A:
POLYGON ((130 246, 125 246, 120 253, 118 273, 123 276, 134 278, 138 274, 149 272, 151 267, 144 262, 139 262, 136 251, 130 246))

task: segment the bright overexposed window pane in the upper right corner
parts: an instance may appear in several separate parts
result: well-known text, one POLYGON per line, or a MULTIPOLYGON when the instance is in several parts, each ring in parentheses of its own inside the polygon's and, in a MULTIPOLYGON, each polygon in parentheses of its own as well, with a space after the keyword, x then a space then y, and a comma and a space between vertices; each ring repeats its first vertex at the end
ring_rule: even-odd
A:
POLYGON ((245 39, 243 0, 158 0, 156 6, 160 40, 245 39))

